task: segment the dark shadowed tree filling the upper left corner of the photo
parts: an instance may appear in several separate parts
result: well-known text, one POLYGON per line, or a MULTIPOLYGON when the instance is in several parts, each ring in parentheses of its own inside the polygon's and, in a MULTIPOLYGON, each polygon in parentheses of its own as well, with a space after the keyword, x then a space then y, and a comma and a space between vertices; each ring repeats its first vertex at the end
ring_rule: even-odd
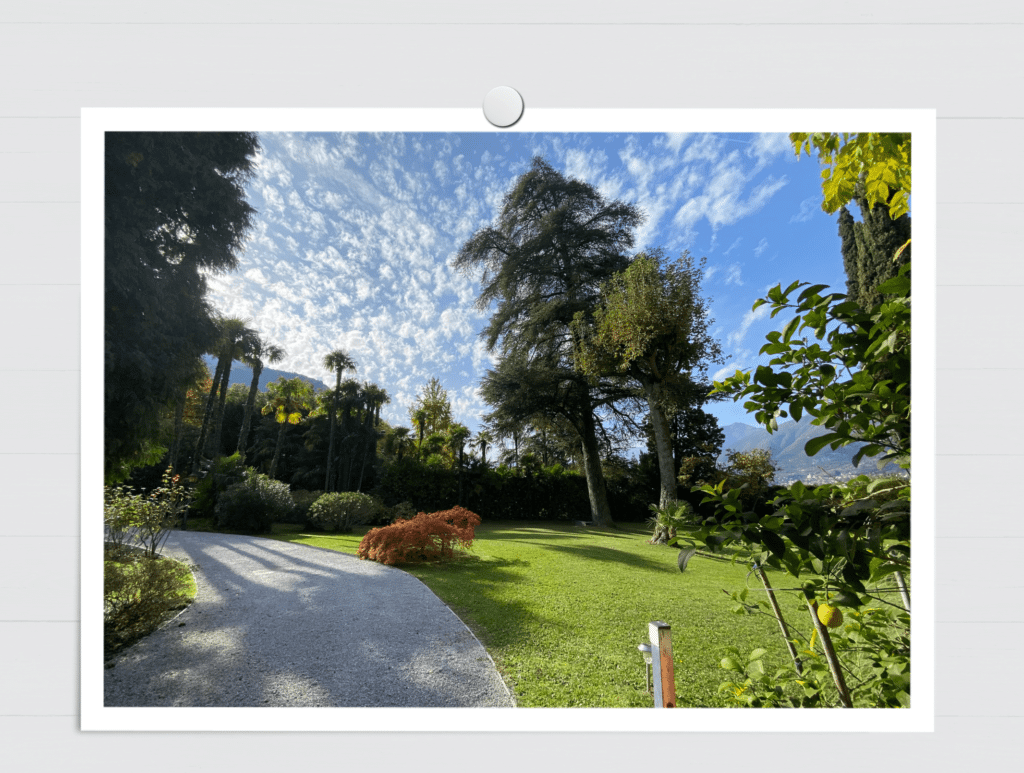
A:
POLYGON ((250 133, 106 134, 108 479, 162 450, 161 415, 216 340, 204 272, 237 265, 255 213, 244 186, 258 148, 250 133))

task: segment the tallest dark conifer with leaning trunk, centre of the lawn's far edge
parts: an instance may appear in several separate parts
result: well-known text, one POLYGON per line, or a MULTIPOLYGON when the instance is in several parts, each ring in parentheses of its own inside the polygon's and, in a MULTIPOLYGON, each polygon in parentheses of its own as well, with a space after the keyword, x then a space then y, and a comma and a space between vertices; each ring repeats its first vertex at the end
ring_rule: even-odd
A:
POLYGON ((496 426, 562 416, 580 435, 593 520, 611 523, 601 473, 596 412, 608 404, 573 368, 577 312, 596 306, 599 287, 629 263, 626 251, 643 214, 607 202, 587 182, 535 158, 505 195, 496 223, 474 233, 454 264, 482 269, 480 309, 494 311, 482 333, 501 360, 484 377, 496 426))

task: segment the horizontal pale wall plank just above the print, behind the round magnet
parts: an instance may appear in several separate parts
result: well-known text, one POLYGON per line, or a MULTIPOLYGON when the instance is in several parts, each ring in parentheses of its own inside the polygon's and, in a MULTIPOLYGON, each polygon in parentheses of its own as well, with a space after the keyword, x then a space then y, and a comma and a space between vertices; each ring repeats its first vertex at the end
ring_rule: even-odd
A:
POLYGON ((527 108, 1019 117, 1019 37, 1020 28, 997 25, 4 25, 0 67, 31 79, 6 84, 0 116, 73 117, 82 106, 467 108, 514 83, 527 108), (496 46, 496 36, 508 45, 496 46), (874 80, 851 104, 838 85, 858 70, 874 80))

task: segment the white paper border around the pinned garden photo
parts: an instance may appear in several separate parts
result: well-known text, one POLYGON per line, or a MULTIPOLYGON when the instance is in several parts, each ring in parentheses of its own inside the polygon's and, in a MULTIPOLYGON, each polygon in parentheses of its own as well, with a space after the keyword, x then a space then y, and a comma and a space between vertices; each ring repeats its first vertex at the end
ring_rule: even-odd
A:
MULTIPOLYGON (((481 110, 82 110, 81 729, 95 731, 934 732, 936 440, 936 111, 538 110, 499 129, 481 110), (913 136, 911 431, 913 636, 909 708, 106 707, 103 705, 102 534, 103 137, 108 131, 348 132, 887 132, 913 136)), ((638 632, 638 637, 642 632, 638 632)), ((639 668, 639 667, 638 667, 639 668)))

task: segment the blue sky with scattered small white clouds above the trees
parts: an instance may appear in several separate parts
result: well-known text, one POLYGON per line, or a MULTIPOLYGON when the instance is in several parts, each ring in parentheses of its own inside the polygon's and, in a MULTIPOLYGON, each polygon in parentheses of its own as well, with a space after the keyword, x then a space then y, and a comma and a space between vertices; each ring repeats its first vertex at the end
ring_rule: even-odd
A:
MULTIPOLYGON (((795 127, 799 129, 800 127, 795 127)), ((759 362, 765 334, 790 318, 751 311, 795 280, 845 291, 836 216, 822 212, 820 169, 785 134, 261 133, 248 191, 259 214, 237 271, 210 277, 223 314, 250 319, 288 356, 275 364, 333 383, 324 355, 349 353, 354 378, 387 390, 382 418, 411 426, 431 377, 457 421, 476 432, 493 364, 474 302, 478 277, 451 262, 497 217, 534 156, 647 216, 635 251, 708 258, 718 379, 759 362)), ((855 217, 859 217, 854 213, 855 217)), ((767 358, 765 358, 767 359, 767 358)), ((707 409, 724 427, 755 424, 739 404, 707 409)))

